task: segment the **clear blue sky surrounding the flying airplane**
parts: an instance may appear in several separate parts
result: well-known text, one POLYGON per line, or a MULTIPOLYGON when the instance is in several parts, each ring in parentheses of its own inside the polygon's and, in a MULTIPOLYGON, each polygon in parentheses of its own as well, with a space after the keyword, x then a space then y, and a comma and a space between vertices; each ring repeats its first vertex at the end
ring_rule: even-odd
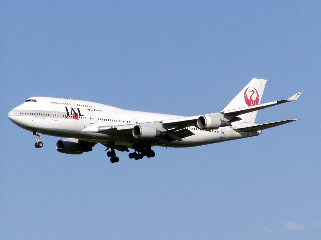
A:
POLYGON ((320 239, 319 1, 5 1, 0 239, 320 239), (194 116, 267 79, 259 137, 58 153, 7 118, 31 96, 194 116))

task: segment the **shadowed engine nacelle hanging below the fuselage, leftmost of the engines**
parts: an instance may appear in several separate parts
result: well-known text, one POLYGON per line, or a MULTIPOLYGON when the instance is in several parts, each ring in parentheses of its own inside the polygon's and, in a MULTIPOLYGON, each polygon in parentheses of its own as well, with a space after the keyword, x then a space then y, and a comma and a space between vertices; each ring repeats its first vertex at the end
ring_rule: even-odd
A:
POLYGON ((92 151, 92 147, 85 141, 74 138, 61 139, 56 143, 56 149, 60 153, 82 154, 83 152, 92 151))

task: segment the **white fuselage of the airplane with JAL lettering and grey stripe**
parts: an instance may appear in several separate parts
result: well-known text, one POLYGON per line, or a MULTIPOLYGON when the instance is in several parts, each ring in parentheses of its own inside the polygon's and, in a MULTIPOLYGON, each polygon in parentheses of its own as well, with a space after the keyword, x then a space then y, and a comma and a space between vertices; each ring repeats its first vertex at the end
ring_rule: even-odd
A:
MULTIPOLYGON (((161 122, 164 120, 182 118, 183 116, 148 113, 124 110, 112 106, 62 98, 32 97, 16 108, 8 117, 20 127, 46 135, 77 138, 81 140, 108 143, 114 141, 117 145, 131 148, 139 141, 134 136, 117 136, 99 133, 100 126, 128 125, 140 123, 161 122), (35 101, 31 101, 35 100, 35 101)), ((260 132, 239 133, 233 128, 246 123, 236 122, 217 130, 200 130, 195 126, 186 127, 194 135, 183 138, 182 141, 171 141, 161 144, 164 147, 192 147, 215 142, 239 139, 259 135, 260 132)), ((154 144, 155 145, 155 144, 154 144)))

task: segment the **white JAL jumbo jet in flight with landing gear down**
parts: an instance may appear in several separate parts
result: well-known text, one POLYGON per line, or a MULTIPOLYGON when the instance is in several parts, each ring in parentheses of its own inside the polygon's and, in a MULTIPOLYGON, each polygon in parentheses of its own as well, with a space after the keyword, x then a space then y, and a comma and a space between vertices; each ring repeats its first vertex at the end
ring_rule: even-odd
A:
POLYGON ((135 160, 154 157, 154 146, 184 148, 260 135, 262 130, 298 119, 256 124, 257 111, 295 101, 288 99, 260 104, 266 80, 253 78, 220 112, 198 116, 176 116, 125 110, 96 102, 31 97, 9 113, 9 119, 36 135, 36 148, 42 148, 41 134, 61 137, 60 153, 82 154, 97 143, 108 150, 111 163, 119 158, 115 150, 129 153, 135 160), (63 139, 65 138, 65 139, 63 139))

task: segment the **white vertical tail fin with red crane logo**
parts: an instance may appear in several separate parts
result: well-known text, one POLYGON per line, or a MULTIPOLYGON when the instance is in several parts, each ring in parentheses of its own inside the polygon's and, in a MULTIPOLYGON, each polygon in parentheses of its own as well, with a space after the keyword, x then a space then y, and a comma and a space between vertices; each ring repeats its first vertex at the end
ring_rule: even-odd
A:
MULTIPOLYGON (((258 105, 261 102, 266 80, 253 78, 243 89, 236 95, 232 101, 222 111, 228 111, 238 108, 258 105)), ((239 115, 243 122, 254 123, 257 111, 239 115)))

